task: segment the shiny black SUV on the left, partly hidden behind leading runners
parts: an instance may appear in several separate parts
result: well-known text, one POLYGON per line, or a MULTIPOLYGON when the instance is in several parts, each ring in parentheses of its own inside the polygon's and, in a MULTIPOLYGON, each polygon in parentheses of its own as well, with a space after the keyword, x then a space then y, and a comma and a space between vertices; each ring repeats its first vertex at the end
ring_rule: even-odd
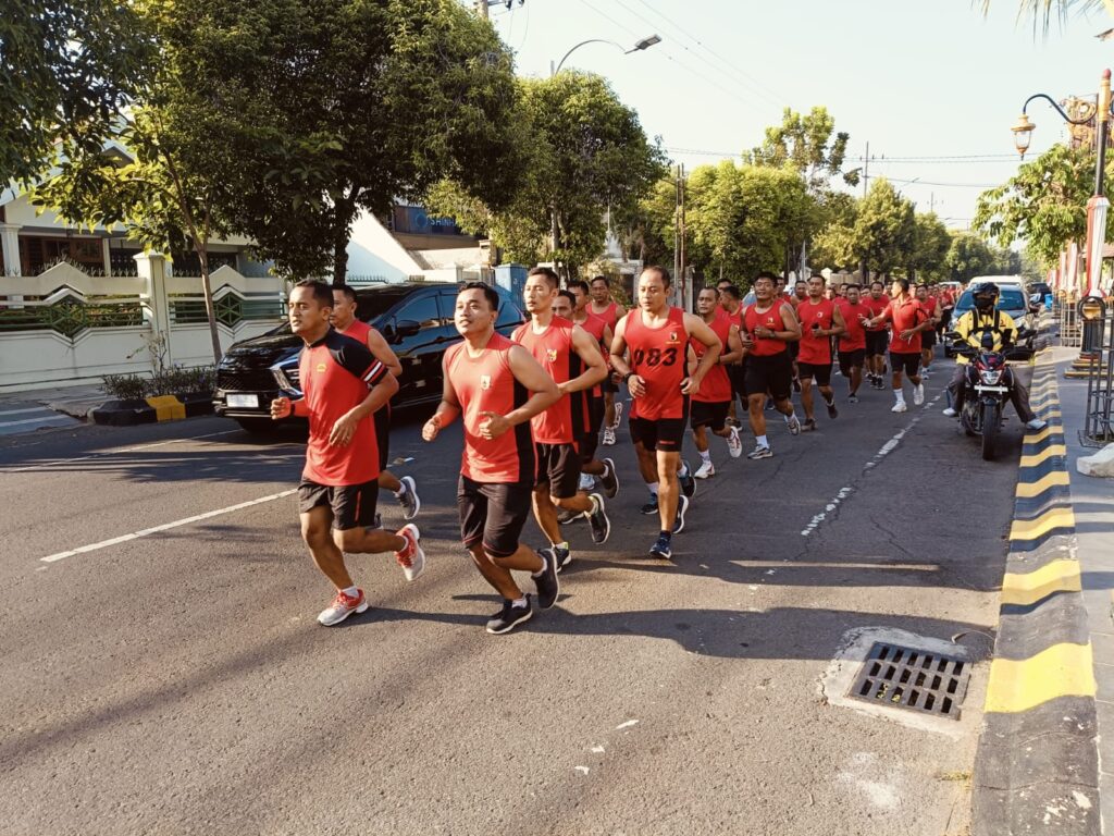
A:
MULTIPOLYGON (((379 330, 399 356, 402 378, 395 406, 437 401, 441 397, 441 358, 460 340, 452 322, 459 285, 448 282, 384 284, 356 291, 356 317, 379 330)), ((509 337, 525 321, 510 293, 499 293, 496 330, 509 337)), ((261 337, 237 342, 216 367, 213 406, 250 431, 274 426, 271 401, 280 395, 302 396, 297 357, 302 340, 285 323, 261 337)), ((295 420, 295 419, 287 419, 295 420)))

